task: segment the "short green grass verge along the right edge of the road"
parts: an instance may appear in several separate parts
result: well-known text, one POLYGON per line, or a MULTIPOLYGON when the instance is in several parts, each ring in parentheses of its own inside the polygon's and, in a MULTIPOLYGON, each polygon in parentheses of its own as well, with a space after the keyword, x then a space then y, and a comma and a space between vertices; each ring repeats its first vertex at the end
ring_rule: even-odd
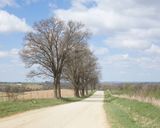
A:
POLYGON ((105 111, 112 128, 160 128, 160 107, 118 98, 105 92, 105 111))

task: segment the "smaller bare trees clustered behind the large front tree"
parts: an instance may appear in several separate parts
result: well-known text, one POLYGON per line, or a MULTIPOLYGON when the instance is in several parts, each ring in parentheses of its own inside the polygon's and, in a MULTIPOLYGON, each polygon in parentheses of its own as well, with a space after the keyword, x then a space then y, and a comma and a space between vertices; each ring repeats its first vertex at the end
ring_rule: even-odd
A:
POLYGON ((88 86, 92 80, 98 78, 97 59, 89 50, 86 43, 79 44, 70 51, 68 62, 66 62, 63 76, 68 80, 73 88, 74 95, 79 97, 88 94, 88 86))

